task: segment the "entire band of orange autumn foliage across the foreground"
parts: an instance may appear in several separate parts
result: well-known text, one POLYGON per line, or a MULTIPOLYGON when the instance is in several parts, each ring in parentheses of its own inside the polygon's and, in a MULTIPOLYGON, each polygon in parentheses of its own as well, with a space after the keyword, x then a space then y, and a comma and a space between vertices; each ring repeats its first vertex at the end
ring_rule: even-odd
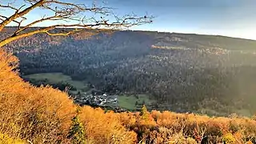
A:
POLYGON ((18 58, 0 50, 0 143, 74 143, 68 135, 75 126, 85 143, 256 143, 253 118, 148 112, 146 106, 137 113, 83 106, 77 114, 65 92, 23 82, 17 66, 18 58))

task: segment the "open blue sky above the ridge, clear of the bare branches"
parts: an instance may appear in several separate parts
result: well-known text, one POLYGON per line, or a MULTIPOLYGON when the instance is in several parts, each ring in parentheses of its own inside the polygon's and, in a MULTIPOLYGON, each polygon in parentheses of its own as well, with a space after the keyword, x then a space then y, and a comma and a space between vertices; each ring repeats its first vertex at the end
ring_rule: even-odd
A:
MULTIPOLYGON (((22 2, 22 0, 18 0, 22 2)), ((92 3, 92 0, 62 0, 92 3)), ((98 2, 97 0, 94 0, 98 2)), ((105 0, 117 14, 153 15, 154 22, 131 30, 214 34, 256 40, 255 0, 105 0)), ((2 11, 0 11, 2 13, 2 11)), ((7 14, 7 12, 6 12, 7 14)), ((35 10, 28 17, 46 14, 35 10)))

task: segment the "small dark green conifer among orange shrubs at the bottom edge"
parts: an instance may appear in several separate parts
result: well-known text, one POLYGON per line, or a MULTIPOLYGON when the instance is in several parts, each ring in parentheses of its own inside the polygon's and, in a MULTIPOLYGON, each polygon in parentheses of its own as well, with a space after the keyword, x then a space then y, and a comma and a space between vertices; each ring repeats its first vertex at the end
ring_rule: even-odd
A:
POLYGON ((72 118, 72 124, 70 126, 70 131, 68 134, 68 138, 72 140, 74 144, 85 144, 85 130, 79 119, 80 109, 78 108, 77 114, 72 118))

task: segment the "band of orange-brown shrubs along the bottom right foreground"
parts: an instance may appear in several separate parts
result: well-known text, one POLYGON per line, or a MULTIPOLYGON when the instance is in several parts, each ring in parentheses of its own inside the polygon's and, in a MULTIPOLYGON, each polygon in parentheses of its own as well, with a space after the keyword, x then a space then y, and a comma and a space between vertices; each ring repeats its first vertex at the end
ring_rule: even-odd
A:
MULTIPOLYGON (((136 117, 136 114, 134 115, 136 117)), ((210 118, 205 115, 176 114, 170 111, 161 113, 156 110, 153 110, 150 115, 155 123, 151 122, 145 126, 143 122, 137 120, 137 125, 128 125, 131 130, 138 134, 138 141, 149 143, 157 138, 157 143, 165 143, 170 139, 170 135, 178 133, 182 133, 186 138, 193 138, 198 143, 219 143, 222 142, 223 138, 229 140, 228 134, 234 136, 235 143, 255 141, 256 123, 250 118, 210 118), (160 127, 160 132, 150 127, 160 127), (242 136, 238 137, 238 132, 242 136)), ((126 118, 125 123, 129 123, 128 118, 126 118)))

